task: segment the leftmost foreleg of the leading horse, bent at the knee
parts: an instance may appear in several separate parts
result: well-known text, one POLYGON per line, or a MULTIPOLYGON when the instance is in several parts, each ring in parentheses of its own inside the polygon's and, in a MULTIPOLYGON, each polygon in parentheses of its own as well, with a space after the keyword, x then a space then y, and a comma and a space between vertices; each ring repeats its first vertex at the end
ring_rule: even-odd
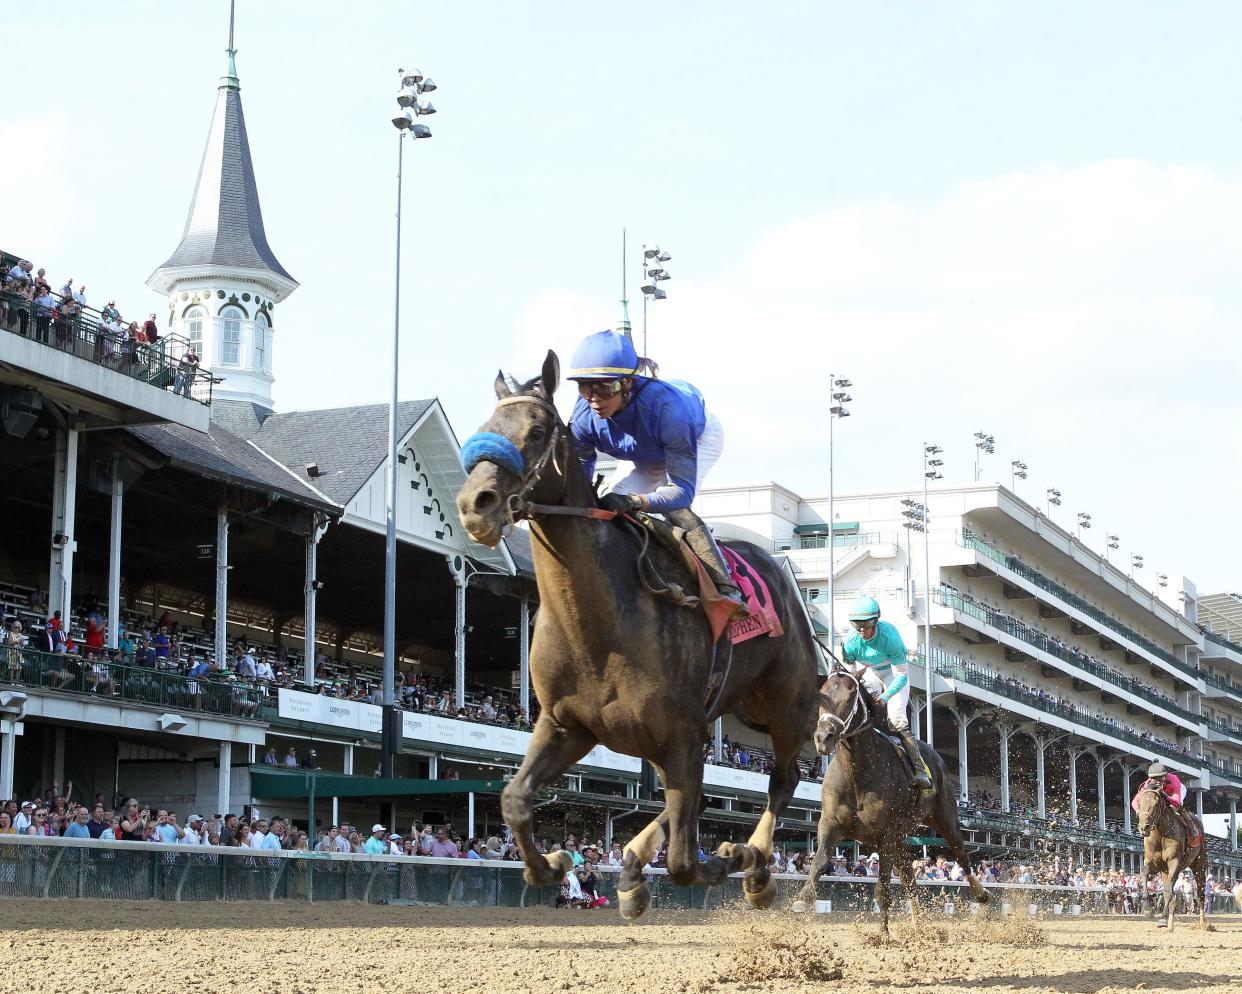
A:
POLYGON ((595 737, 585 728, 558 724, 545 711, 535 722, 527 758, 501 791, 501 811, 522 850, 522 859, 527 864, 527 883, 532 887, 560 883, 574 865, 568 852, 555 852, 549 861, 535 846, 535 794, 586 755, 595 742, 595 737))

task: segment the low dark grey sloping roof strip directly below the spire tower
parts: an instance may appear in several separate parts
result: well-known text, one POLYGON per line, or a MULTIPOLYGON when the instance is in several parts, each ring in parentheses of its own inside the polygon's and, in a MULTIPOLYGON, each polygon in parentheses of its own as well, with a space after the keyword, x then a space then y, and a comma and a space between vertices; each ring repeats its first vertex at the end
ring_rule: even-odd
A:
POLYGON ((176 468, 340 513, 338 504, 317 493, 252 442, 221 425, 212 424, 207 431, 191 431, 180 425, 143 425, 128 431, 176 468))

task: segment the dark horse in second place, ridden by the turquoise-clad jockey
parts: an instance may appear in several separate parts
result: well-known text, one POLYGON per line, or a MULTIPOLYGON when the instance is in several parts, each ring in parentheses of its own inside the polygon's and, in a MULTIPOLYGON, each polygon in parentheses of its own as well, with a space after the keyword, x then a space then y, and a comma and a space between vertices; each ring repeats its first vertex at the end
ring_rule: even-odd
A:
POLYGON ((879 927, 887 934, 894 862, 912 910, 918 908, 914 869, 905 857, 905 839, 919 825, 930 826, 948 844, 954 859, 966 871, 975 901, 986 905, 989 896, 970 866, 970 854, 958 829, 958 804, 953 793, 945 789, 940 754, 925 742, 919 743, 933 785, 930 791, 919 790, 910 783, 903 753, 881 731, 883 726, 883 712, 864 690, 858 675, 833 668, 820 688, 815 748, 820 755, 833 752, 835 755, 823 774, 815 861, 794 910, 814 907, 815 882, 827 867, 832 846, 842 839, 853 839, 879 854, 876 900, 879 902, 879 927))

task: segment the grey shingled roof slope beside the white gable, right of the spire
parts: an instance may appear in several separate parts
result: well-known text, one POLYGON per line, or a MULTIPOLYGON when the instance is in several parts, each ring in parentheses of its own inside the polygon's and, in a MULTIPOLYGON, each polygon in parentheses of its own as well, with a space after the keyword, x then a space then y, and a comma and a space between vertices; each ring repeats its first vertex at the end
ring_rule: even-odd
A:
MULTIPOLYGON (((397 404, 397 437, 407 435, 435 403, 397 404)), ((273 414, 253 441, 294 473, 318 463, 315 490, 345 506, 388 458, 388 404, 273 414)))

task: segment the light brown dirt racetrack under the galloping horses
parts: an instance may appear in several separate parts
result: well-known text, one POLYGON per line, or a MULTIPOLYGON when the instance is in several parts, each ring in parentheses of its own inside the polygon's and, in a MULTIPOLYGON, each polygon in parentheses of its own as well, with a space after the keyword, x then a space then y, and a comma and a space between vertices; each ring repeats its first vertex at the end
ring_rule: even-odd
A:
POLYGON ((1242 990, 1242 919, 1174 948, 1146 921, 899 919, 355 903, 0 902, 0 969, 75 990, 175 994, 1242 990))

